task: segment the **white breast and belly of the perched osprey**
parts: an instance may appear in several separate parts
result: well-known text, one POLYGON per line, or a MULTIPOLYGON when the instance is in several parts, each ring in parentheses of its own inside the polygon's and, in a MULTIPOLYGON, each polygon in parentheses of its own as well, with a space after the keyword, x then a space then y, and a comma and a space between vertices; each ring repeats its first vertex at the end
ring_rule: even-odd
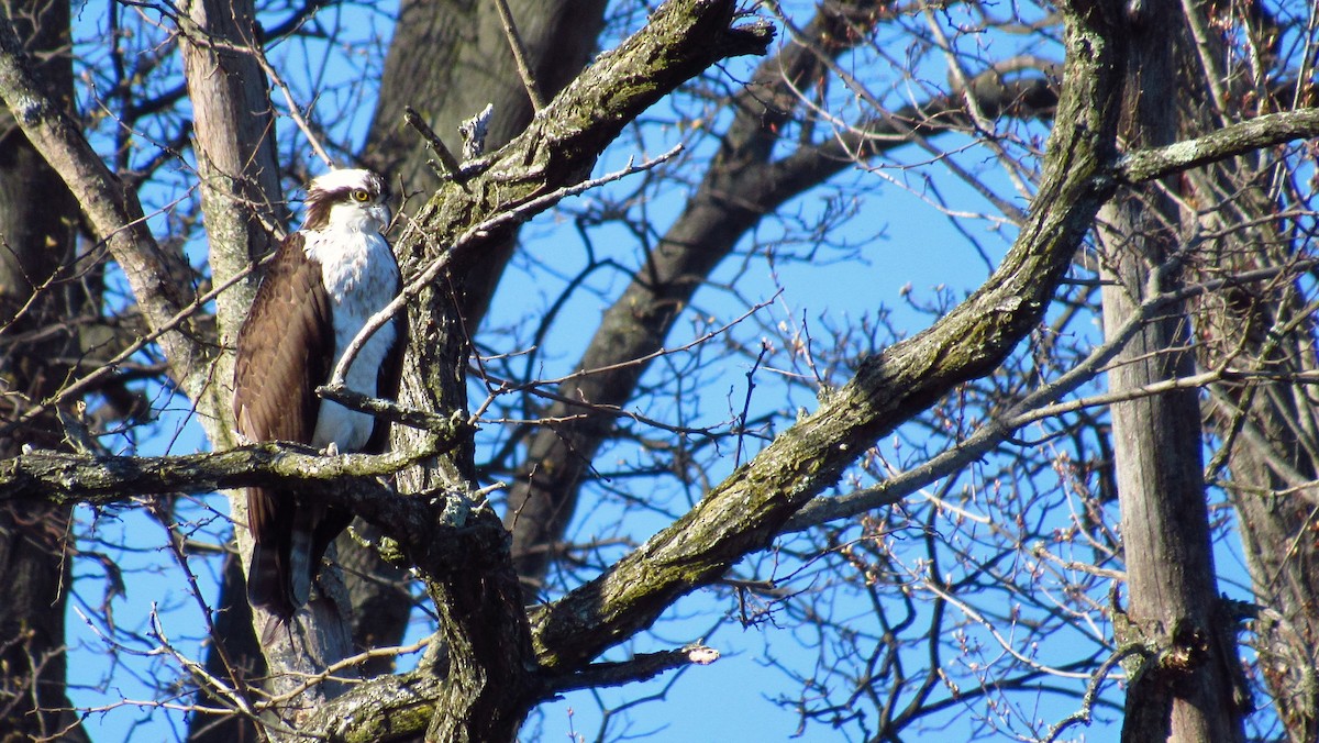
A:
MULTIPOLYGON (((307 232, 303 249, 307 257, 321 264, 321 276, 334 307, 334 358, 338 363, 344 348, 352 343, 367 319, 394 298, 398 289, 398 265, 389 243, 375 230, 361 230, 359 224, 331 227, 307 232)), ((392 321, 361 348, 348 367, 348 388, 377 396, 376 381, 385 355, 398 335, 397 321, 392 321)), ((371 438, 375 418, 350 410, 339 404, 322 401, 321 414, 311 443, 318 447, 334 442, 340 451, 356 451, 371 438)))

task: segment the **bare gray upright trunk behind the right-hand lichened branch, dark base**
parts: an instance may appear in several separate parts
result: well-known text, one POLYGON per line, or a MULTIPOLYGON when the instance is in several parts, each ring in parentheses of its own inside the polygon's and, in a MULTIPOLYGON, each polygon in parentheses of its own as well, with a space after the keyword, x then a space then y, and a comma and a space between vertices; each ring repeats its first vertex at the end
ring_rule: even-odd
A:
MULTIPOLYGON (((1121 136, 1130 148, 1171 144, 1181 9, 1150 3, 1128 8, 1125 21, 1121 136)), ((1158 183, 1130 189, 1104 210, 1105 327, 1124 323, 1149 293, 1177 285, 1178 223, 1158 183)), ((1194 371, 1190 319, 1177 302, 1119 352, 1109 389, 1142 389, 1194 371)), ((1236 695, 1236 639, 1219 610, 1198 392, 1138 397, 1111 410, 1129 600, 1115 633, 1120 648, 1146 648, 1130 666, 1122 740, 1242 740, 1246 699, 1236 695)))

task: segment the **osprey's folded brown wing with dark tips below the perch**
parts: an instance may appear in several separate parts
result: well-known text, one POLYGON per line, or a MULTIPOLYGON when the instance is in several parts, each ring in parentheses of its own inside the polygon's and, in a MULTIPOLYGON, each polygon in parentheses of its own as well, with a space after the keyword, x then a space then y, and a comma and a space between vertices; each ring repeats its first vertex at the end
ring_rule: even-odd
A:
MULTIPOLYGON (((233 417, 239 433, 251 441, 310 443, 321 408, 315 387, 334 363, 330 297, 321 264, 309 260, 302 245, 301 232, 280 245, 239 331, 233 417)), ((302 524, 297 499, 293 492, 257 487, 248 488, 247 496, 256 542, 248 597, 286 619, 297 610, 290 554, 294 531, 302 524)), ((302 534, 303 541, 307 537, 302 534)))

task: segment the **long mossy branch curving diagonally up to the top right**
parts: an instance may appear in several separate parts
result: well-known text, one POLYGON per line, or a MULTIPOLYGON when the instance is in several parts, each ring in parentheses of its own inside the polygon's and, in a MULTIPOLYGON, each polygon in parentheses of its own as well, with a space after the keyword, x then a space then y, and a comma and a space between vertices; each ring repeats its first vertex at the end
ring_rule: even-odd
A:
POLYGON ((719 579, 770 544, 807 500, 832 486, 876 437, 956 384, 992 371, 1043 315, 1115 190, 1117 51, 1109 3, 1071 8, 1067 62, 1039 193, 1002 265, 966 302, 919 335, 865 360, 813 416, 599 578, 533 615, 542 662, 580 668, 648 627, 681 595, 719 579))

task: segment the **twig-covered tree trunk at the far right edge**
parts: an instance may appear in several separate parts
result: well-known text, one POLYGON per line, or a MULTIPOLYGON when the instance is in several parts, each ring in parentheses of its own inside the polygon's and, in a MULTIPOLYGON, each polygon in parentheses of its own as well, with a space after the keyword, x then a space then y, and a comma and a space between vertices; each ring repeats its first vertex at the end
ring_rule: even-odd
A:
MULTIPOLYGON (((1196 48, 1182 54, 1188 81, 1183 136, 1268 112, 1278 102, 1269 91, 1275 81, 1268 67, 1240 61, 1224 69, 1235 59, 1227 53, 1229 32, 1211 21, 1208 7, 1200 4, 1190 20, 1196 48)), ((1266 12, 1235 13, 1240 13, 1236 28, 1254 38, 1278 33, 1266 12)), ((1315 318, 1307 314, 1303 288, 1290 278, 1299 245, 1278 214, 1274 166, 1262 153, 1236 157, 1186 173, 1183 190, 1196 209, 1194 234, 1203 239, 1198 277, 1278 269, 1275 280, 1198 297, 1196 335, 1204 370, 1266 376, 1212 385, 1207 425, 1223 442, 1221 461, 1231 474, 1224 487, 1236 508, 1256 602, 1268 607, 1254 627, 1260 676, 1287 738, 1314 743, 1319 739, 1319 542, 1314 538, 1319 418, 1306 385, 1290 379, 1315 373, 1319 360, 1315 318)))

